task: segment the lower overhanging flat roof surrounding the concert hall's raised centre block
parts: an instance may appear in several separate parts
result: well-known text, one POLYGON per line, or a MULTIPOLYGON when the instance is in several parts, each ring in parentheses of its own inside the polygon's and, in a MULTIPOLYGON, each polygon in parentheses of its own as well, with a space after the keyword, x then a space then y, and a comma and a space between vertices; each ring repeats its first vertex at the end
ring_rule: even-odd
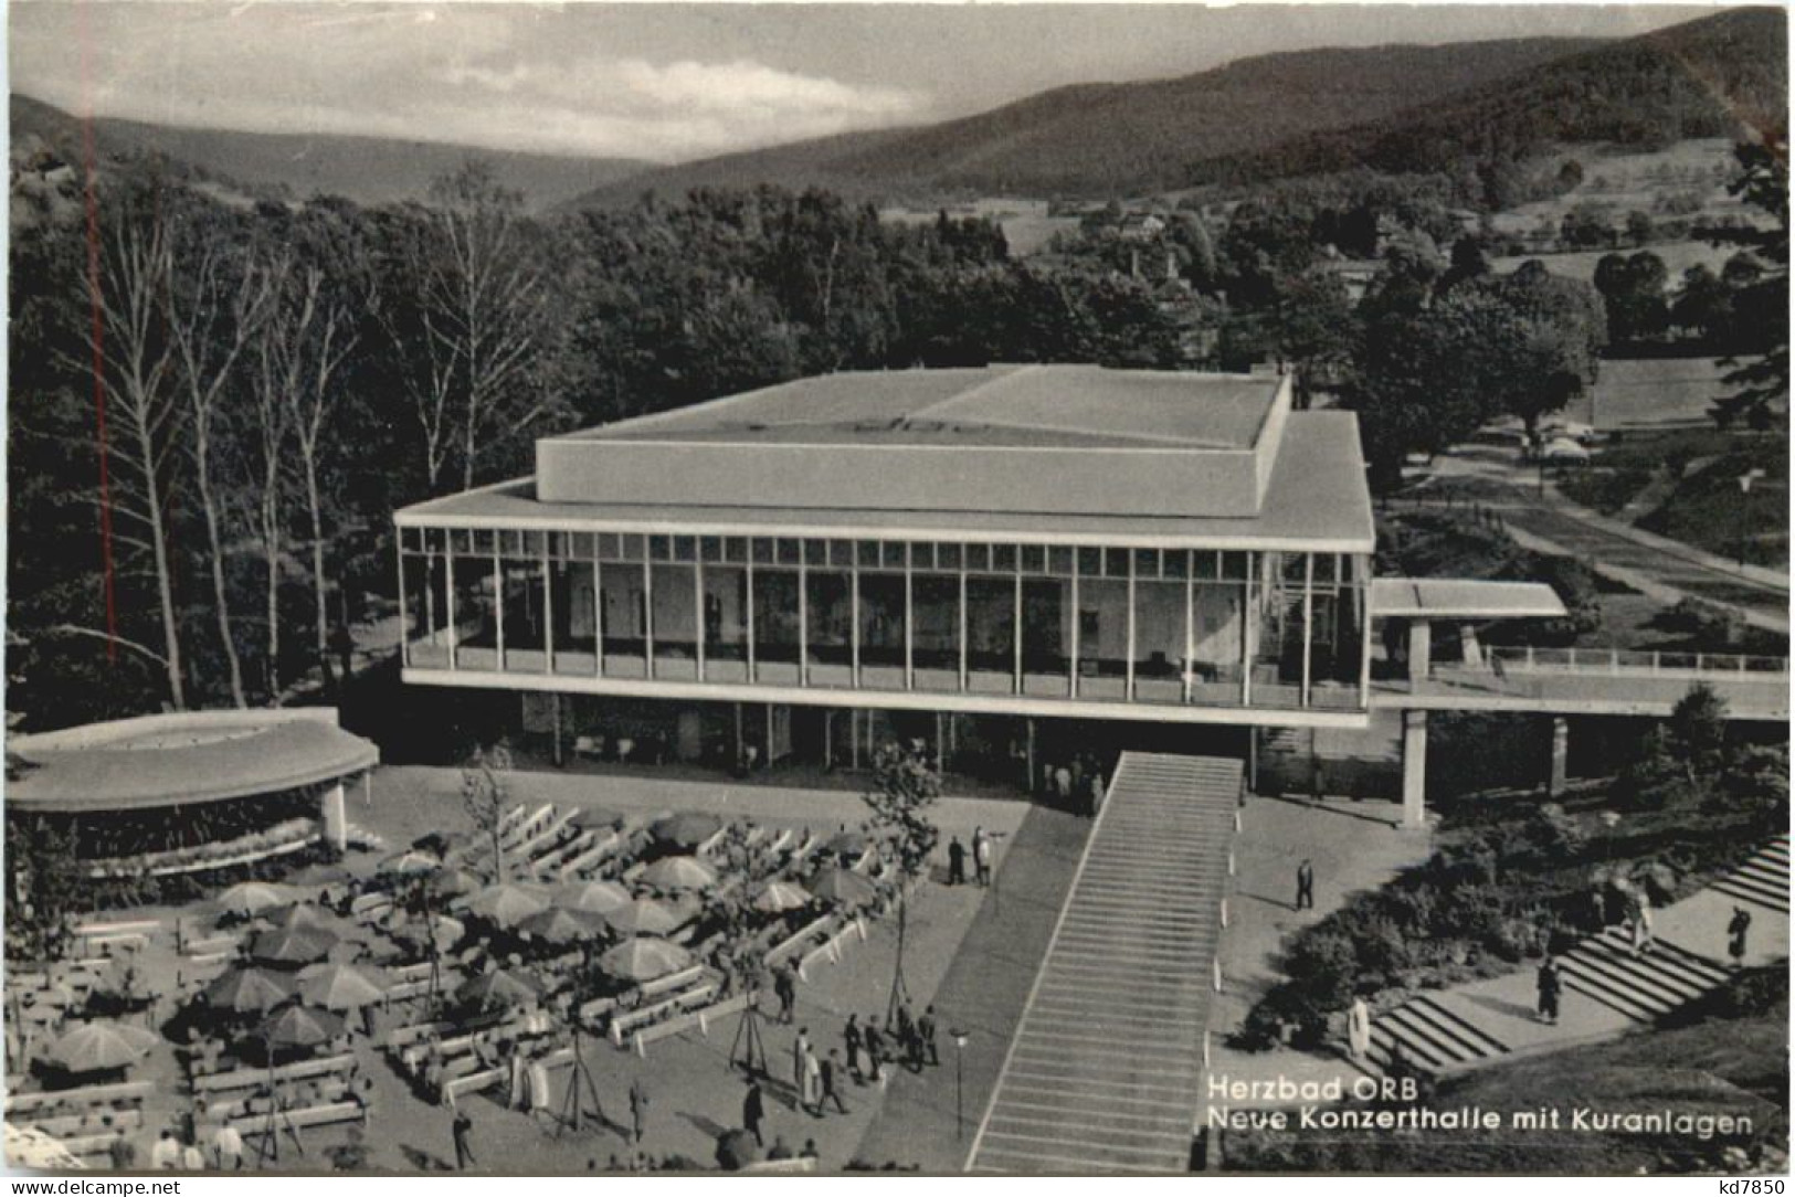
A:
MULTIPOLYGON (((1045 483, 1055 479, 1045 477, 1045 483)), ((591 528, 718 535, 889 537, 1039 544, 1190 544, 1212 547, 1370 553, 1371 497, 1359 425, 1344 411, 1291 413, 1256 511, 1203 515, 1127 510, 1043 513, 1005 510, 1005 495, 976 470, 955 479, 953 506, 757 506, 750 502, 544 502, 535 479, 470 490, 409 506, 409 528, 591 528)), ((1075 495, 1077 497, 1077 495, 1075 495)))

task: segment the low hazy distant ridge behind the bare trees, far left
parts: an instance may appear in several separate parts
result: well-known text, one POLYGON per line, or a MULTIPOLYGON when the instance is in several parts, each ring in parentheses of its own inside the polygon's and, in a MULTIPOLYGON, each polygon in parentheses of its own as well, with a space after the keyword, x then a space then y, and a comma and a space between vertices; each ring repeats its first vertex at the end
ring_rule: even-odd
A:
MULTIPOLYGON (((59 108, 13 95, 13 140, 36 136, 50 153, 81 154, 81 122, 59 108)), ((199 178, 233 183, 266 199, 343 196, 364 205, 422 199, 431 179, 468 156, 486 158, 531 208, 549 208, 594 187, 628 178, 648 163, 625 158, 560 158, 442 142, 404 142, 320 133, 242 133, 156 126, 102 117, 93 122, 102 156, 158 154, 199 178)))

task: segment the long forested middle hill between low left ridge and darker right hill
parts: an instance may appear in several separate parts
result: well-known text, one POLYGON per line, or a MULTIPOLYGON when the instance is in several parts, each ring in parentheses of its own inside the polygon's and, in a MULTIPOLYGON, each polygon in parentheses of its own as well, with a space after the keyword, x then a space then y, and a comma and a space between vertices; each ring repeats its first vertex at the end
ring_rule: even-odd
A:
POLYGON ((648 188, 684 194, 756 183, 819 185, 880 199, 1163 190, 1179 185, 1192 162, 1427 106, 1596 45, 1529 38, 1269 54, 1178 79, 1055 88, 937 126, 664 167, 580 203, 621 203, 648 188))

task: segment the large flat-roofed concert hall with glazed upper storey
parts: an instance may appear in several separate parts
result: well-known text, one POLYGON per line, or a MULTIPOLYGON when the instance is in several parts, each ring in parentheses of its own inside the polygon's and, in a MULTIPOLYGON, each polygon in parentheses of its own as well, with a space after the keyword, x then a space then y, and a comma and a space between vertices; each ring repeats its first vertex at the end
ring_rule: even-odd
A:
POLYGON ((404 678, 538 721, 635 700, 555 700, 574 738, 639 700, 682 705, 679 756, 761 759, 1368 721, 1355 418, 1280 373, 801 379, 542 440, 533 477, 397 524, 404 678))

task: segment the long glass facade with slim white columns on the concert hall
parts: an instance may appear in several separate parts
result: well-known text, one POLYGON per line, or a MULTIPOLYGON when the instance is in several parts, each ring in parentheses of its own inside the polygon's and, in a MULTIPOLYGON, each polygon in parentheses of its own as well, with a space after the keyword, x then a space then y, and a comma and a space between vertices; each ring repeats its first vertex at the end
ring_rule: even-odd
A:
POLYGON ((406 528, 406 666, 1362 711, 1370 558, 406 528))

